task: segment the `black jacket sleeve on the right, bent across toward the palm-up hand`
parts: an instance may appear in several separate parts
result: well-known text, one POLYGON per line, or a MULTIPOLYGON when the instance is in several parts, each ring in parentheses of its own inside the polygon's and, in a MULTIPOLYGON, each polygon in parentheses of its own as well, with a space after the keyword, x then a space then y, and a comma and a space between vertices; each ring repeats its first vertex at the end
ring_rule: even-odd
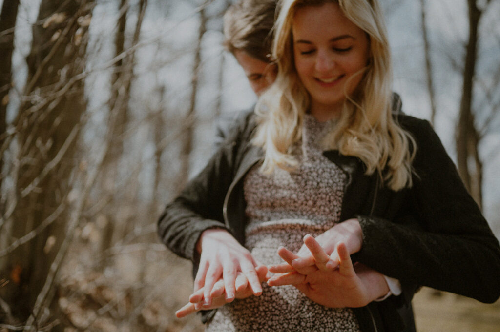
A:
POLYGON ((419 120, 414 126, 416 174, 408 207, 419 227, 359 218, 363 246, 357 259, 401 282, 493 303, 500 297, 498 240, 430 124, 419 120))

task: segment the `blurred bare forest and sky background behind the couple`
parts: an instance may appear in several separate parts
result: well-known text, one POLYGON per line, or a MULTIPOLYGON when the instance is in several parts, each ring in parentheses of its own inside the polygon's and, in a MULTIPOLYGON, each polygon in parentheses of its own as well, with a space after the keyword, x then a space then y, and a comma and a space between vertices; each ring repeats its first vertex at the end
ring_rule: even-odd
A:
MULTIPOLYGON (((0 0, 0 332, 202 331, 164 204, 250 107, 230 0, 0 0)), ((381 0, 403 110, 431 121, 500 236, 500 0, 381 0)), ((487 268, 487 267, 484 267, 487 268)), ((424 289, 417 329, 500 331, 424 289)))

